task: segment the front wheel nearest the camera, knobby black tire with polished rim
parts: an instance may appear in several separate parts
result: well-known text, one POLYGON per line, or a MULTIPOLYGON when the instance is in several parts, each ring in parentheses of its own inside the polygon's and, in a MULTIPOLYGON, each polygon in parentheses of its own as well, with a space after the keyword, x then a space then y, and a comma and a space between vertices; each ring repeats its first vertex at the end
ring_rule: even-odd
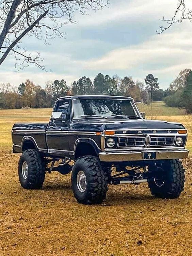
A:
POLYGON ((79 157, 73 166, 71 184, 78 203, 102 203, 108 189, 108 175, 98 157, 79 157))

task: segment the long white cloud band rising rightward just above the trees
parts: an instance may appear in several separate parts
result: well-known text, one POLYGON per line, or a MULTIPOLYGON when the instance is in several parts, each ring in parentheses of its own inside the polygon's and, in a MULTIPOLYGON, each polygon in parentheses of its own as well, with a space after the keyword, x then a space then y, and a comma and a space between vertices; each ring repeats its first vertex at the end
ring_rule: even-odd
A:
POLYGON ((92 70, 142 68, 142 70, 157 70, 158 73, 163 73, 163 70, 167 73, 170 70, 173 73, 178 72, 178 69, 186 68, 186 65, 192 66, 191 55, 192 38, 185 30, 180 33, 155 35, 146 42, 115 49, 102 58, 85 62, 84 65, 85 68, 92 70))

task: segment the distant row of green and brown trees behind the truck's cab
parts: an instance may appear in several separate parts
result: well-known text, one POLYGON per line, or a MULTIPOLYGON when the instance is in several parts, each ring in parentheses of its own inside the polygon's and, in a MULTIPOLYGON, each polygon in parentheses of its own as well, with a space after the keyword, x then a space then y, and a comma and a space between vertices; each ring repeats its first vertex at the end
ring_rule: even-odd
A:
POLYGON ((93 81, 83 76, 70 86, 64 79, 47 81, 44 89, 29 79, 18 87, 10 83, 1 83, 0 108, 49 108, 58 97, 91 94, 130 96, 135 101, 143 103, 150 103, 152 100, 161 101, 167 96, 166 90, 159 89, 158 78, 152 74, 146 76, 144 84, 140 80, 133 81, 131 76, 120 78, 114 75, 111 78, 109 75, 99 73, 93 81))

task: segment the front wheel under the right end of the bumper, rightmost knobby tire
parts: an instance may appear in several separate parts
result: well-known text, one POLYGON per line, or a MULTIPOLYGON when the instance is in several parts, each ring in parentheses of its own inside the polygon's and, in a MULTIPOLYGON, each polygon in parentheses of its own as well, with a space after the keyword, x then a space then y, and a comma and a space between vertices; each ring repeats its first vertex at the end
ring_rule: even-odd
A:
MULTIPOLYGON (((148 168, 149 171, 151 167, 148 168)), ((160 198, 177 198, 184 189, 185 169, 178 159, 166 160, 162 164, 162 179, 150 181, 151 194, 160 198)))

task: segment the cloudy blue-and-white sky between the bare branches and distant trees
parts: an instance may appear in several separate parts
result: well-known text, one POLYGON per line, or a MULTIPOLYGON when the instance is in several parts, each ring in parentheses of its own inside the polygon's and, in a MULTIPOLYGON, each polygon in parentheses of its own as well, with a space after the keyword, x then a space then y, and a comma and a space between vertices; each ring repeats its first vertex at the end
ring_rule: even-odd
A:
POLYGON ((165 25, 160 19, 173 16, 177 0, 110 1, 101 11, 75 13, 77 23, 63 27, 66 39, 55 38, 51 45, 33 37, 23 39, 30 52, 41 53, 50 73, 34 65, 16 71, 10 56, 0 66, 0 83, 18 86, 30 79, 45 87, 47 80, 64 79, 71 85, 82 76, 93 80, 98 73, 144 81, 152 73, 160 88, 166 89, 180 70, 192 67, 192 23, 185 21, 156 33, 165 25))

